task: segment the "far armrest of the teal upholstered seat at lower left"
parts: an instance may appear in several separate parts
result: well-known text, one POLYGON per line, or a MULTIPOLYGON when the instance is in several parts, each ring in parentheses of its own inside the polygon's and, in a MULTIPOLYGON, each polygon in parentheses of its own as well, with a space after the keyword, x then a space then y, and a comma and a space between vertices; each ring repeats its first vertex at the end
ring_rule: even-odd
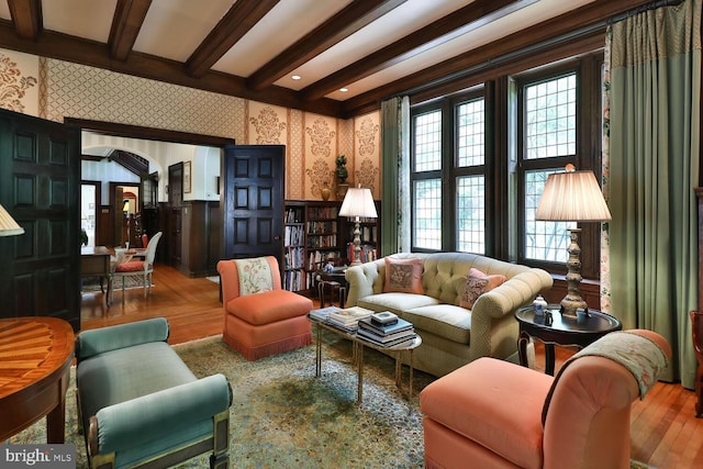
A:
POLYGON ((149 342, 166 342, 168 333, 168 321, 165 317, 82 331, 76 337, 76 359, 80 362, 110 350, 149 342))

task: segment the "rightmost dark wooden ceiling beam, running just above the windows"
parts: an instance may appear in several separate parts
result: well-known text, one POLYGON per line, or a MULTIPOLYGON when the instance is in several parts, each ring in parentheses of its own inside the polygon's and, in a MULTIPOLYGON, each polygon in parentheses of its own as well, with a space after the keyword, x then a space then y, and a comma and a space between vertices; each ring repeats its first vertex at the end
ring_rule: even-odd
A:
MULTIPOLYGON (((344 101, 344 115, 357 115, 378 109, 381 100, 399 96, 426 92, 443 87, 448 81, 493 68, 502 60, 513 60, 518 56, 534 54, 538 47, 555 43, 566 43, 582 35, 591 35, 594 30, 605 32, 605 22, 621 13, 650 3, 649 0, 595 0, 577 10, 544 21, 517 33, 511 34, 481 47, 471 49, 439 64, 427 67, 408 77, 387 83, 344 101), (534 45, 533 47, 527 47, 534 45)), ((605 40, 602 40, 605 44, 605 40)), ((459 90, 460 88, 457 88, 459 90)))

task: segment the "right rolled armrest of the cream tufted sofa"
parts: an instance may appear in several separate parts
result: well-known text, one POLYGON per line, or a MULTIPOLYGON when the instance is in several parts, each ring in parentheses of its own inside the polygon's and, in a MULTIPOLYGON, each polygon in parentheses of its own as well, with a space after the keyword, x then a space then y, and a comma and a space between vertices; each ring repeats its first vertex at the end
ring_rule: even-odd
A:
POLYGON ((516 350, 517 322, 512 314, 553 282, 549 272, 532 268, 481 294, 471 309, 471 360, 506 358, 506 350, 516 350))

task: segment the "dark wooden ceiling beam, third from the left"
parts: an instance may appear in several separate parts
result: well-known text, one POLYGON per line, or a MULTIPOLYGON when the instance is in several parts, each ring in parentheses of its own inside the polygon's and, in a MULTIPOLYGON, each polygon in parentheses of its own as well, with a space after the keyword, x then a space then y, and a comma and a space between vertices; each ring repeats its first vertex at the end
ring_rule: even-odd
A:
POLYGON ((187 72, 192 77, 202 77, 278 2, 279 0, 237 0, 186 60, 187 72))

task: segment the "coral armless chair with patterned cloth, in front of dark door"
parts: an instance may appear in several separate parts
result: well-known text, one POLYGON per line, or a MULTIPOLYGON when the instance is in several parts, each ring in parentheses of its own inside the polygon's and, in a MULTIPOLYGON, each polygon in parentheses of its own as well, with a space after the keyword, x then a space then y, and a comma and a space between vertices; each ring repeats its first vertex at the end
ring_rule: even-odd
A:
POLYGON ((312 343, 309 298, 281 288, 272 257, 217 263, 224 309, 222 338, 247 360, 312 343))

